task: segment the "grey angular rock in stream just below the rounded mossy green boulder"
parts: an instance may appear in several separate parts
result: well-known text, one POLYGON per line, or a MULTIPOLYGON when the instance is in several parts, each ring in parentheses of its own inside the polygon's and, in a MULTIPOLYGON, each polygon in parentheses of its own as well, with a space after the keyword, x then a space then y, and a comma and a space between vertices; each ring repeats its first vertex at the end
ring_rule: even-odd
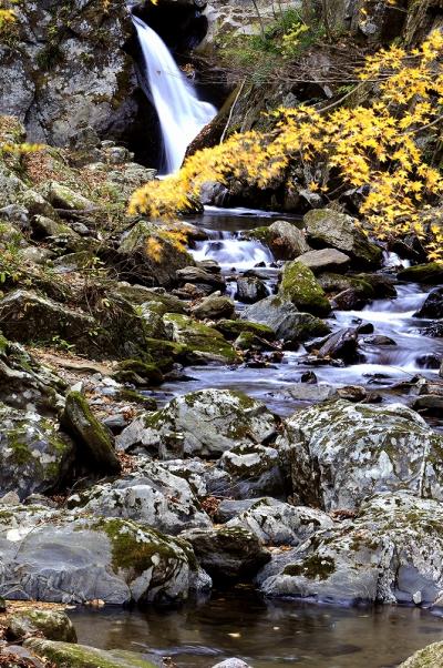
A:
POLYGON ((290 342, 307 341, 330 332, 329 325, 280 296, 269 296, 245 308, 240 317, 270 327, 277 338, 290 342))

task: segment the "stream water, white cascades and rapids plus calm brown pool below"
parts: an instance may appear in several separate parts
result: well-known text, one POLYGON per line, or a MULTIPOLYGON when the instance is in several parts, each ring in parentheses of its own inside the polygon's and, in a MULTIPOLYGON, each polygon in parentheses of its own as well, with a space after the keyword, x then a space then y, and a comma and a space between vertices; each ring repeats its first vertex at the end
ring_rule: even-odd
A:
MULTIPOLYGON (((270 223, 281 214, 248 210, 206 210, 190 222, 206 230, 208 240, 194 249, 196 259, 219 262, 226 276, 256 269, 271 292, 278 269, 258 242, 241 241, 241 231, 270 223), (240 236, 240 237, 239 237, 240 236)), ((391 257, 395 262, 395 257, 391 257)), ((389 269, 387 269, 389 271, 389 269)), ((229 289, 229 283, 228 283, 229 289)), ((426 321, 413 313, 426 292, 418 285, 400 284, 398 297, 378 300, 363 311, 336 312, 333 328, 360 318, 374 326, 375 334, 392 337, 395 346, 362 345, 365 361, 346 367, 316 366, 319 384, 334 387, 360 384, 391 396, 392 386, 420 373, 436 377, 436 370, 421 368, 423 354, 443 355, 443 340, 423 336, 426 321)), ((237 304, 241 310, 243 305, 237 304)), ((290 388, 301 372, 311 371, 306 351, 286 352, 281 363, 267 368, 248 366, 200 366, 186 368, 187 382, 171 382, 158 398, 203 387, 239 388, 262 399, 272 411, 290 414, 307 404, 295 399, 290 388)), ((436 424, 442 425, 442 419, 436 424)), ((175 609, 74 610, 79 641, 102 648, 124 648, 145 652, 162 665, 172 657, 178 668, 209 668, 224 658, 237 656, 254 668, 388 668, 396 666, 416 649, 443 640, 443 620, 426 610, 409 607, 337 608, 303 605, 288 600, 266 600, 248 588, 215 591, 210 599, 175 609)))

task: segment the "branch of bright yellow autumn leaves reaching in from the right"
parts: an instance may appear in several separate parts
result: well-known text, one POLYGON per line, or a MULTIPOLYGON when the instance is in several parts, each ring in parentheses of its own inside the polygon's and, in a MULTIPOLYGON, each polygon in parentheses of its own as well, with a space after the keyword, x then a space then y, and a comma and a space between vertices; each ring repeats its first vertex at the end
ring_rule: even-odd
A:
MULTIPOLYGON (((278 179, 289 186, 292 164, 322 163, 336 168, 343 184, 369 185, 360 213, 379 237, 414 232, 426 240, 431 259, 443 260, 442 231, 427 230, 422 215, 423 202, 443 193, 443 179, 416 142, 443 119, 442 55, 439 30, 410 53, 395 45, 381 49, 360 73, 362 82, 377 87, 368 105, 279 109, 271 132, 234 134, 192 155, 177 174, 136 191, 131 213, 173 217, 207 181, 234 178, 267 188, 278 179)), ((328 195, 328 175, 317 176, 310 189, 328 195)))

